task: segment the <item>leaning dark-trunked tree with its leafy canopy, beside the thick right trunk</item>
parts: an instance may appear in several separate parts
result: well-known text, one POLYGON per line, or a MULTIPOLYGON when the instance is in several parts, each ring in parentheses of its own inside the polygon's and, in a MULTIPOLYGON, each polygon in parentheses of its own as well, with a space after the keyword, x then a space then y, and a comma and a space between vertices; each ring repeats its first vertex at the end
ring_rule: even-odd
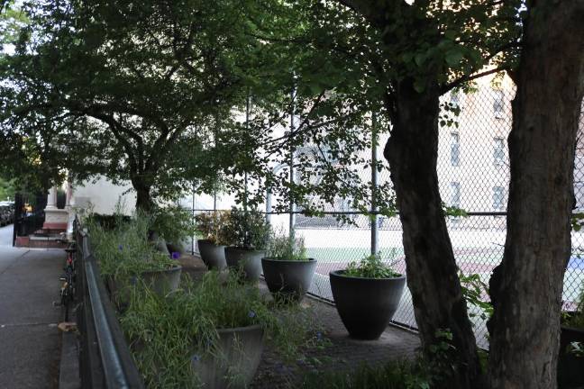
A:
MULTIPOLYGON (((324 200, 340 194, 366 203, 370 187, 361 184, 355 190, 358 179, 347 168, 368 163, 354 151, 367 147, 370 135, 355 125, 367 123, 367 115, 375 112, 382 131, 390 132, 384 156, 404 230, 415 319, 431 362, 439 362, 433 353, 441 341, 436 334, 452 332, 455 368, 443 383, 448 387, 480 387, 483 376, 438 190, 438 130, 450 121, 441 114, 439 98, 476 77, 512 67, 521 33, 519 7, 518 1, 291 2, 290 14, 308 20, 303 28, 262 36, 274 45, 304 48, 289 60, 297 76, 297 112, 303 117, 284 140, 293 148, 326 146, 315 154, 332 172, 325 173, 324 185, 313 185, 309 174, 297 187, 284 184, 283 175, 270 178, 286 186, 288 195, 299 189, 298 202, 312 192, 324 200), (332 164, 330 155, 342 162, 332 164)), ((276 154, 289 153, 283 144, 272 146, 276 154)), ((304 165, 309 171, 315 163, 304 165)), ((390 202, 385 194, 387 210, 390 202)))

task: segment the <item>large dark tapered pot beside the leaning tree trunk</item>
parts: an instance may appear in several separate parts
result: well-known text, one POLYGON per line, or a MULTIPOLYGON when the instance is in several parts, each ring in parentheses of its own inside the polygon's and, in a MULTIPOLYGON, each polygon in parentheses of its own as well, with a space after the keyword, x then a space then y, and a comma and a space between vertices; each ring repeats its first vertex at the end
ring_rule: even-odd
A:
POLYGON ((330 273, 331 289, 342 323, 351 338, 379 339, 397 310, 406 276, 361 278, 330 273))

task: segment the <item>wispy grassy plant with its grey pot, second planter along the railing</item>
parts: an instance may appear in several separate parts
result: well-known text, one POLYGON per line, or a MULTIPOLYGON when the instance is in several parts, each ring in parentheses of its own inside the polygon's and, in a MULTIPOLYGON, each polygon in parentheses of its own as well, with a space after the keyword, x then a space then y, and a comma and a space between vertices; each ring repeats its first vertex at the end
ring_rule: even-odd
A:
POLYGON ((150 226, 151 218, 144 214, 108 231, 87 221, 93 253, 119 306, 128 303, 129 290, 139 284, 138 278, 161 295, 178 287, 182 267, 147 239, 150 226))

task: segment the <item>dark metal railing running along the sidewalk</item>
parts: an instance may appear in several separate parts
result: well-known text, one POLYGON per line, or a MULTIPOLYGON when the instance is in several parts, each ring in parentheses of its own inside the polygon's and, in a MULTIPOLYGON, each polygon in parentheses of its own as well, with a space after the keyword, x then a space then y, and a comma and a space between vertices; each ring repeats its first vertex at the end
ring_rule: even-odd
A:
POLYGON ((89 236, 75 223, 78 243, 79 368, 83 388, 144 388, 91 253, 89 236))

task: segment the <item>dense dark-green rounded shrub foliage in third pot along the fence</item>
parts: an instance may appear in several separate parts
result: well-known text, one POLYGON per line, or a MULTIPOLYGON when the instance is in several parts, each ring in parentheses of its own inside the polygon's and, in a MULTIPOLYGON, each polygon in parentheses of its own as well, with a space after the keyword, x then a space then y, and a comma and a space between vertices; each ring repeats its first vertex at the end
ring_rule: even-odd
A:
POLYGON ((269 222, 259 210, 233 208, 225 226, 225 244, 243 249, 266 249, 270 233, 269 222))

